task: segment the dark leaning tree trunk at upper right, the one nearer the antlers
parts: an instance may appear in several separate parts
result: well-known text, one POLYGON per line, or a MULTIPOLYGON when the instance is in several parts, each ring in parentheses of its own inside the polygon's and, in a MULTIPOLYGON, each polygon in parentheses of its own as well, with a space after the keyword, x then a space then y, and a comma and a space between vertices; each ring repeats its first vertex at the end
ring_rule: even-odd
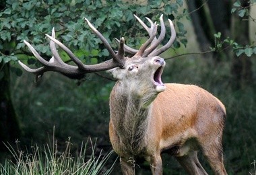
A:
MULTIPOLYGON (((203 52, 214 46, 214 34, 221 32, 222 38, 230 34, 230 2, 228 1, 196 1, 187 0, 195 34, 203 52)), ((223 58, 228 58, 228 52, 214 52, 205 55, 205 58, 212 58, 213 63, 218 63, 223 58)))

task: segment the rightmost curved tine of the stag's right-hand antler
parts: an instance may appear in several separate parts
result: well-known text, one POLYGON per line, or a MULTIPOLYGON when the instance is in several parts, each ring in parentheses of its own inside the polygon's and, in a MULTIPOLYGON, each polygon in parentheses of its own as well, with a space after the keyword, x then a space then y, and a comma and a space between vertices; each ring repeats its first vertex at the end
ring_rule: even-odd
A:
POLYGON ((161 48, 158 48, 157 50, 154 50, 152 53, 150 53, 150 55, 148 55, 149 57, 160 55, 162 52, 164 52, 168 48, 170 48, 170 46, 174 42, 174 40, 176 38, 176 32, 175 32, 174 26, 172 24, 172 21, 170 19, 168 19, 168 21, 169 21, 169 24, 170 24, 170 32, 171 32, 170 40, 168 40, 168 42, 164 46, 162 46, 161 48))

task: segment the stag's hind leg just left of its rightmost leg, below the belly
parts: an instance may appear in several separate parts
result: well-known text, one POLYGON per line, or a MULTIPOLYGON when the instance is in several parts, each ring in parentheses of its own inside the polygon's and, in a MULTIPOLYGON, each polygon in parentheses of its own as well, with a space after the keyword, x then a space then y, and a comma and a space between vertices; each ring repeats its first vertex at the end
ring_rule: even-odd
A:
POLYGON ((197 151, 192 151, 188 155, 175 158, 188 174, 207 174, 198 160, 197 151))

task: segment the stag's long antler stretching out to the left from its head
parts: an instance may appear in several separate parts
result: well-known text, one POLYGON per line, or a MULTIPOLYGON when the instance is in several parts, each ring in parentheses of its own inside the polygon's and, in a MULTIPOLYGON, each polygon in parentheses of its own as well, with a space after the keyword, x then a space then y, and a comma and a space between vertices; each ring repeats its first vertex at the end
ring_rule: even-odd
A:
POLYGON ((43 75, 43 73, 46 71, 57 71, 67 77, 70 77, 70 78, 82 79, 86 73, 92 73, 92 72, 96 72, 96 71, 106 71, 106 70, 112 69, 114 67, 123 67, 123 65, 125 63, 125 57, 124 57, 124 55, 125 55, 125 51, 124 51, 125 39, 121 38, 121 41, 119 42, 119 51, 116 54, 115 51, 113 50, 113 48, 111 48, 110 44, 108 44, 106 38, 104 38, 104 36, 102 36, 102 34, 100 34, 100 32, 98 32, 98 30, 96 30, 96 28, 94 28, 94 26, 92 26, 92 24, 86 18, 85 18, 85 20, 88 23, 88 25, 90 26, 90 28, 94 31, 94 33, 100 38, 100 40, 102 40, 104 46, 106 46, 106 49, 110 53, 111 57, 113 57, 113 59, 104 61, 103 63, 99 63, 96 65, 84 65, 84 63, 82 63, 82 61, 80 61, 79 59, 77 59, 77 57, 75 57, 73 52, 71 52, 71 50, 69 50, 69 48, 67 48, 67 46, 65 46, 64 44, 59 42, 59 40, 55 39, 55 30, 53 28, 52 36, 49 36, 48 34, 46 34, 46 36, 51 39, 50 49, 53 54, 53 57, 50 59, 50 61, 46 61, 45 59, 40 57, 40 55, 33 48, 33 46, 31 46, 31 44, 29 44, 28 42, 26 42, 26 40, 24 40, 24 43, 31 50, 34 57, 36 57, 36 59, 38 59, 38 61, 40 61, 40 63, 42 63, 44 66, 39 67, 38 69, 31 69, 30 67, 24 65, 24 63, 19 61, 20 65, 26 71, 28 71, 30 73, 34 73, 36 75, 36 80, 39 77, 41 77, 43 75), (68 64, 64 63, 57 52, 57 48, 56 48, 55 44, 58 44, 67 53, 67 55, 69 55, 71 60, 77 66, 68 65, 68 64))

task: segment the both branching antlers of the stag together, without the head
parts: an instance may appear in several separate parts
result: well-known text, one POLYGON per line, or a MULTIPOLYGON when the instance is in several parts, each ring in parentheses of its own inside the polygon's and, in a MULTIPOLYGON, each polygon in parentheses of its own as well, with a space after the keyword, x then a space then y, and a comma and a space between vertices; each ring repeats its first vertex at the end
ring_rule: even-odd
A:
POLYGON ((46 61, 45 59, 40 57, 40 55, 33 48, 33 46, 31 46, 31 44, 29 44, 28 42, 26 42, 26 40, 24 40, 24 43, 31 50, 34 57, 36 57, 36 59, 38 59, 38 61, 40 61, 40 63, 42 63, 43 66, 39 67, 38 69, 31 69, 30 67, 24 65, 24 63, 22 63, 21 61, 19 61, 19 63, 26 71, 34 73, 36 75, 36 80, 39 77, 41 77, 43 73, 46 71, 57 71, 73 79, 82 79, 86 73, 106 71, 114 67, 123 67, 126 60, 125 51, 135 56, 152 57, 152 56, 160 55, 162 52, 170 48, 170 46, 172 45, 176 37, 176 32, 174 30, 174 26, 171 20, 168 20, 170 24, 171 34, 172 34, 170 37, 170 40, 164 46, 157 48, 159 44, 162 42, 162 40, 164 39, 164 36, 166 34, 166 28, 164 26, 163 16, 162 15, 160 16, 161 32, 158 38, 156 38, 156 32, 158 27, 156 22, 153 23, 152 20, 146 17, 148 22, 150 22, 150 28, 149 28, 146 24, 144 24, 139 19, 139 17, 137 17, 136 15, 134 16, 136 17, 138 22, 141 24, 141 26, 143 26, 143 28, 145 28, 148 34, 150 35, 150 38, 144 44, 141 45, 139 50, 130 48, 129 46, 125 45, 125 39, 121 38, 121 40, 118 40, 119 50, 117 53, 115 53, 115 51, 113 50, 113 48, 111 48, 106 38, 104 38, 104 36, 102 36, 102 34, 100 34, 100 32, 98 32, 98 30, 96 30, 96 28, 94 28, 94 26, 85 18, 90 28, 93 30, 96 36, 100 38, 100 40, 102 41, 102 43, 104 44, 104 46, 106 47, 110 56, 113 59, 104 61, 103 63, 98 63, 96 65, 84 65, 82 61, 80 61, 79 59, 77 59, 77 57, 75 57, 73 52, 71 52, 71 50, 69 50, 67 46, 59 42, 59 40, 55 39, 55 30, 53 28, 51 36, 46 34, 46 36, 50 38, 50 49, 53 54, 53 57, 50 59, 50 61, 46 61), (67 55, 69 55, 70 59, 75 63, 76 66, 68 65, 67 63, 64 63, 62 61, 61 57, 58 54, 56 44, 59 45, 67 53, 67 55))

